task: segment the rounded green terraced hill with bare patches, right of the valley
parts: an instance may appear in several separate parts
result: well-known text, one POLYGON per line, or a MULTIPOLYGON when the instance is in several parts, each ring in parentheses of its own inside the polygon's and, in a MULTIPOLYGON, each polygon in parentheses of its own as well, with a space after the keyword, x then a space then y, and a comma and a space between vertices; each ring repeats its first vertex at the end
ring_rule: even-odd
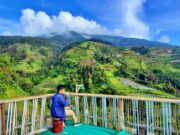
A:
POLYGON ((92 93, 178 96, 180 69, 154 57, 140 55, 134 48, 84 42, 63 52, 50 71, 53 76, 35 91, 42 87, 48 91, 54 82, 63 82, 71 90, 75 84, 85 84, 86 92, 92 93))

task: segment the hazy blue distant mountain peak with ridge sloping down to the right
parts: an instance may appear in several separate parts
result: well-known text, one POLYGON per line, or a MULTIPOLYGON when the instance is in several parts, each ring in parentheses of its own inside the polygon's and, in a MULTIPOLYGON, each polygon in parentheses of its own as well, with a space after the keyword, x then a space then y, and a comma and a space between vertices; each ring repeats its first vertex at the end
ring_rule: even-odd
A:
POLYGON ((62 43, 64 41, 68 42, 79 42, 85 40, 101 41, 107 42, 115 46, 149 46, 149 47, 172 47, 174 45, 168 43, 162 43, 157 41, 149 41, 145 39, 136 38, 125 38, 120 36, 108 36, 108 35, 88 35, 83 33, 77 33, 74 31, 65 32, 62 34, 51 33, 49 35, 44 35, 46 38, 62 43))

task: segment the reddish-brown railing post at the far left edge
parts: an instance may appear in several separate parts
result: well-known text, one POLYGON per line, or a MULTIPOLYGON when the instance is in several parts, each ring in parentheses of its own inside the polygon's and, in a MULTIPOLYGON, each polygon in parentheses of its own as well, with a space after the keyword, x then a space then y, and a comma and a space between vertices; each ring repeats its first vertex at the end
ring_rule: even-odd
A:
POLYGON ((1 134, 2 134, 2 135, 5 135, 5 134, 6 134, 5 115, 4 115, 5 110, 4 110, 4 106, 5 106, 4 103, 0 103, 0 114, 1 114, 0 120, 1 120, 1 131, 2 131, 1 134))

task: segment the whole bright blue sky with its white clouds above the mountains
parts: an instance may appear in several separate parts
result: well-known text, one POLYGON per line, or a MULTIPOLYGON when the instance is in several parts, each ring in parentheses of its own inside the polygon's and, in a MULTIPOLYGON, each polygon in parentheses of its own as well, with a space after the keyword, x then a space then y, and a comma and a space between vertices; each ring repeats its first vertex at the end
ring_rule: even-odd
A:
POLYGON ((180 45, 180 0, 1 0, 0 34, 67 30, 180 45))

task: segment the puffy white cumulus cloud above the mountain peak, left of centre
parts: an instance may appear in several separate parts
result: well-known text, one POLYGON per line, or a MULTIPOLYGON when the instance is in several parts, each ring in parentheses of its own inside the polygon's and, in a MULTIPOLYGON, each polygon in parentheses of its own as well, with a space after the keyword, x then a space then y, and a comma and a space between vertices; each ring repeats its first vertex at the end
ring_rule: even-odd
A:
POLYGON ((81 16, 73 16, 62 11, 57 16, 48 16, 45 12, 24 9, 21 16, 21 27, 25 35, 40 35, 50 32, 76 31, 88 34, 106 32, 106 28, 95 21, 87 20, 81 16))

